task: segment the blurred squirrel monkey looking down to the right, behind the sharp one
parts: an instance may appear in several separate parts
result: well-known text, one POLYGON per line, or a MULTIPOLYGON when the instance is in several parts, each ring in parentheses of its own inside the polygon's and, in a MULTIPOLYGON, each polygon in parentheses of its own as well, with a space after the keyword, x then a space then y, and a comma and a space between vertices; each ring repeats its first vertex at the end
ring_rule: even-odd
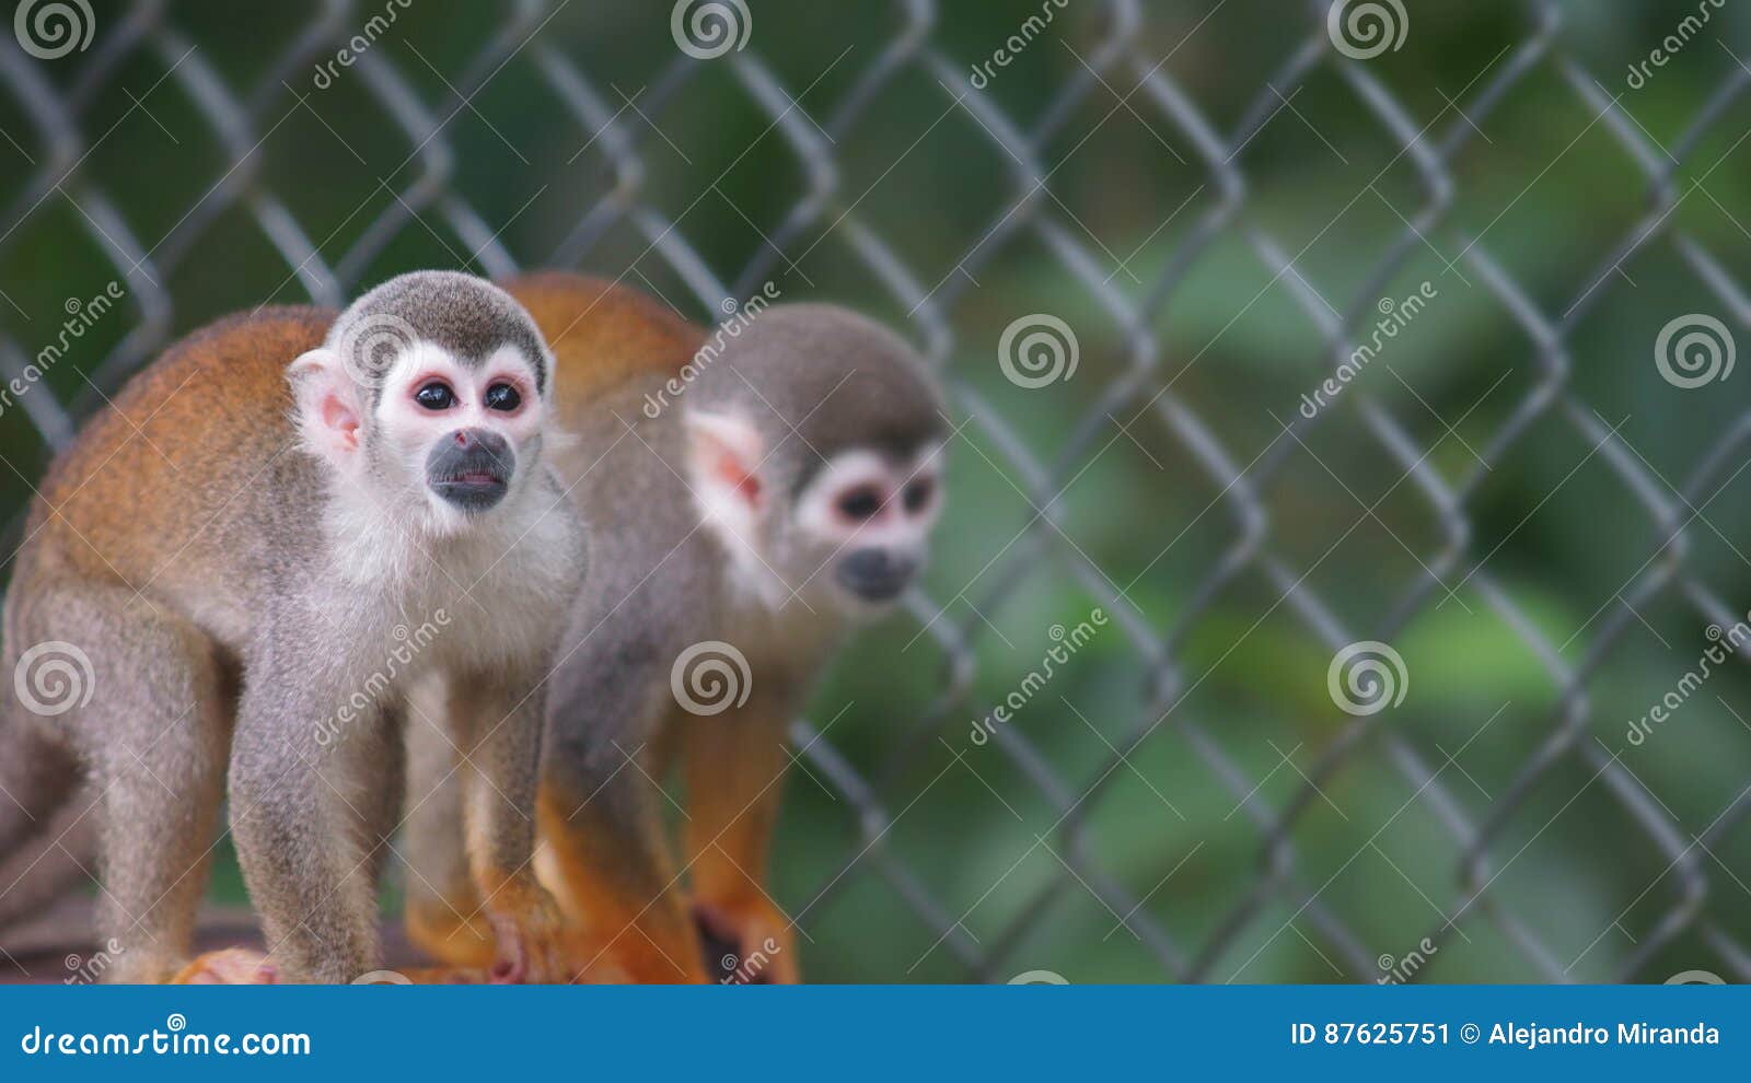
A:
MULTIPOLYGON (((539 793, 538 866, 573 922, 574 976, 795 982, 791 922, 763 887, 784 730, 849 625, 923 562, 942 397, 905 343, 840 308, 772 306, 711 336, 576 275, 506 289, 553 348, 578 436, 557 467, 592 525, 539 793), (685 866, 658 791, 676 759, 685 866)), ((464 920, 445 766, 413 763, 408 933, 466 966, 490 940, 464 920)))

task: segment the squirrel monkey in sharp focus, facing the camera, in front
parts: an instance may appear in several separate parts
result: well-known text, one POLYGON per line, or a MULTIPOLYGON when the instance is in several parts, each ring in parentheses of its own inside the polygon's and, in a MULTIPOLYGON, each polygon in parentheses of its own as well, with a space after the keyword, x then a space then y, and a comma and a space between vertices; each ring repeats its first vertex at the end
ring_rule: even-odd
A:
POLYGON ((54 849, 32 836, 84 782, 105 980, 376 969, 403 730, 466 754, 492 976, 567 975, 531 866, 541 682, 583 576, 552 383, 504 290, 404 275, 338 318, 266 308, 184 339, 49 469, 5 600, 0 856, 54 849), (468 689, 448 731, 406 717, 425 672, 468 689), (191 962, 228 775, 270 954, 191 962))

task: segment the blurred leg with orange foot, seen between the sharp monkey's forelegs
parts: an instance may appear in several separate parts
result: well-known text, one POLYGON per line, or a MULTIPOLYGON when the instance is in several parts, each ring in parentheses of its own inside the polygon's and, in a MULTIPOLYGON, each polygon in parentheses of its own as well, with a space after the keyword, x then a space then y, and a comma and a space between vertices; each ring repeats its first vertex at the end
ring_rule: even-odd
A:
POLYGON ((462 766, 440 682, 408 696, 408 814, 401 849, 408 861, 408 940, 457 968, 490 968, 492 926, 468 871, 462 833, 462 766))

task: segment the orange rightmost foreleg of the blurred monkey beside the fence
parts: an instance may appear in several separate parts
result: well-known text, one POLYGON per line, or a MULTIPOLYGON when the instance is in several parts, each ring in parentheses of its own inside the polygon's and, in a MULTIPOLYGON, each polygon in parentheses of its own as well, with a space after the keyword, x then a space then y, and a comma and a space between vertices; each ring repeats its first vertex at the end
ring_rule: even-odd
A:
POLYGON ((798 978, 793 922, 765 889, 784 768, 781 703, 755 696, 741 710, 685 726, 693 920, 706 966, 728 983, 798 978))

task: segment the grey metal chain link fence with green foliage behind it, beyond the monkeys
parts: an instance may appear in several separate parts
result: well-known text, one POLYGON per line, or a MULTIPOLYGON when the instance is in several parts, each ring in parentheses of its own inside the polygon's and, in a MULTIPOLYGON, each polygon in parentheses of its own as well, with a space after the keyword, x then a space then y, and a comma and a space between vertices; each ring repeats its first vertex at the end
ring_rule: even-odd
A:
POLYGON ((793 726, 811 976, 1751 978, 1744 12, 968 7, 18 3, 7 551, 224 311, 776 283, 956 427, 793 726))

